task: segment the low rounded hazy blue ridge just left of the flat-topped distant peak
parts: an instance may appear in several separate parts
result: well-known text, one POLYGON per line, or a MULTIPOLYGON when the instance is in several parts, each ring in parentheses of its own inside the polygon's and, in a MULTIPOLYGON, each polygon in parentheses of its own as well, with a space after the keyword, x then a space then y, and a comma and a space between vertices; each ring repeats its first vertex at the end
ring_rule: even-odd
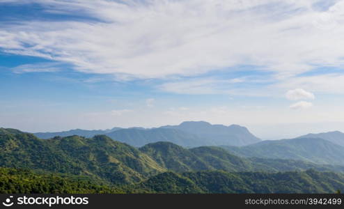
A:
POLYGON ((153 128, 147 130, 122 129, 108 133, 107 136, 116 141, 121 141, 136 147, 157 141, 169 141, 185 147, 200 146, 206 143, 203 139, 196 137, 194 134, 166 128, 153 128))

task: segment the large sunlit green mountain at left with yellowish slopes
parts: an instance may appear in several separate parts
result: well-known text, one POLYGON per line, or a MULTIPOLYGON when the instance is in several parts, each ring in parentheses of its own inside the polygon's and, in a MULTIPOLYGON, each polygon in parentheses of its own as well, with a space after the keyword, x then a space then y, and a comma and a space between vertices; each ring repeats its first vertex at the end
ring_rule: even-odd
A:
POLYGON ((165 171, 148 155, 104 135, 43 140, 1 128, 0 159, 0 167, 93 176, 118 184, 138 182, 165 171))

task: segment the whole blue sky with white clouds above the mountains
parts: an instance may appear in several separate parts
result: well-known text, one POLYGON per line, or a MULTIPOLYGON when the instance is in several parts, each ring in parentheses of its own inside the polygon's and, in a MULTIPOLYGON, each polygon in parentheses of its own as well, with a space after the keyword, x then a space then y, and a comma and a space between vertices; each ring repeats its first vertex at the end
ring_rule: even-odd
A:
POLYGON ((0 127, 344 132, 344 1, 0 0, 0 127))

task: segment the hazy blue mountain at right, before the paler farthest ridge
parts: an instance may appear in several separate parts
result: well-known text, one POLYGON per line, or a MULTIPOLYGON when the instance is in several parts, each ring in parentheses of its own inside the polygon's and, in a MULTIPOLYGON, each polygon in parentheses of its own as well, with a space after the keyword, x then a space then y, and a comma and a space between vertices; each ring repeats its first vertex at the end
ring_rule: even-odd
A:
POLYGON ((305 160, 316 164, 344 164, 344 147, 318 138, 261 141, 249 146, 223 146, 223 148, 243 157, 305 160))

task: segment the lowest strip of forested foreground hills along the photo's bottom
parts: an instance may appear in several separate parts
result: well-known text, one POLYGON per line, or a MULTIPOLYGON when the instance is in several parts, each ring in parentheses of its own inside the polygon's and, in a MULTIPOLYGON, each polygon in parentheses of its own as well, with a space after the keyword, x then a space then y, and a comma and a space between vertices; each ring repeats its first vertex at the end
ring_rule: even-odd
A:
POLYGON ((1 194, 101 193, 336 193, 344 191, 343 174, 314 170, 284 173, 165 172, 141 183, 112 185, 86 176, 0 168, 1 194))

